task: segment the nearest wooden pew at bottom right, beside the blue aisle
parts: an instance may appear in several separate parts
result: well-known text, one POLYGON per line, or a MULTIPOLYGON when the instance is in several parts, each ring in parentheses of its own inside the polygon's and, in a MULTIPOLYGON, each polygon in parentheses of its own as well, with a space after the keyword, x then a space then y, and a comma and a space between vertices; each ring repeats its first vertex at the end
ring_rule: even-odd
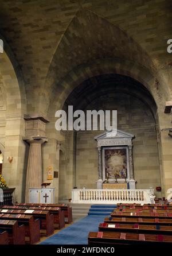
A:
POLYGON ((114 245, 114 244, 136 245, 142 244, 172 244, 172 235, 160 234, 136 234, 127 232, 89 232, 88 245, 114 245))

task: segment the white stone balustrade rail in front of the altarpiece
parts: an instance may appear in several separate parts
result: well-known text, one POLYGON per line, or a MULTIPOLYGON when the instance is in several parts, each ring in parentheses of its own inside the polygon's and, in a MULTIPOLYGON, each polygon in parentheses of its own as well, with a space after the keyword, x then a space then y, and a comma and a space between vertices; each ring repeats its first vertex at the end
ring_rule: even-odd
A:
POLYGON ((71 203, 155 203, 154 189, 72 189, 71 203))

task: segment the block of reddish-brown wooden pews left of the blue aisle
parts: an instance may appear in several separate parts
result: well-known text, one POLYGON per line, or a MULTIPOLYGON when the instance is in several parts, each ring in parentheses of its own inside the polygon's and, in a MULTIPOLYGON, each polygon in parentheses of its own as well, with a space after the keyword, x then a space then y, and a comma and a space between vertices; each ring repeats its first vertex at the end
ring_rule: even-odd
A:
POLYGON ((0 208, 0 245, 33 245, 72 223, 67 204, 15 204, 0 208))

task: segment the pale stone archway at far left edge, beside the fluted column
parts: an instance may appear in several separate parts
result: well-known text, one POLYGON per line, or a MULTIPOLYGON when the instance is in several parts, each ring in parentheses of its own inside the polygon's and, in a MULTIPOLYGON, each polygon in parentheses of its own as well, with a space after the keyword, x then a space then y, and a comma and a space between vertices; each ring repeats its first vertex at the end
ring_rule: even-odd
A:
POLYGON ((0 117, 3 121, 0 150, 1 145, 4 145, 1 150, 3 152, 2 174, 7 186, 16 188, 15 200, 22 201, 25 172, 25 143, 22 141, 22 136, 25 132, 23 117, 26 111, 26 95, 19 66, 5 41, 4 45, 5 52, 0 54, 0 84, 4 88, 4 107, 0 109, 0 117), (10 156, 13 157, 11 163, 7 160, 10 156))

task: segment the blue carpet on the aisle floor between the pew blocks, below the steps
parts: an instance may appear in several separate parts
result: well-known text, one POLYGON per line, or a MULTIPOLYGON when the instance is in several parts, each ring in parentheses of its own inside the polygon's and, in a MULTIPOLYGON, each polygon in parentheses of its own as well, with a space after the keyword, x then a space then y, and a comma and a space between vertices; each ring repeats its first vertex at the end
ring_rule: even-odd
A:
POLYGON ((98 231, 99 223, 104 218, 105 216, 87 216, 47 238, 40 245, 87 245, 88 233, 98 231))

